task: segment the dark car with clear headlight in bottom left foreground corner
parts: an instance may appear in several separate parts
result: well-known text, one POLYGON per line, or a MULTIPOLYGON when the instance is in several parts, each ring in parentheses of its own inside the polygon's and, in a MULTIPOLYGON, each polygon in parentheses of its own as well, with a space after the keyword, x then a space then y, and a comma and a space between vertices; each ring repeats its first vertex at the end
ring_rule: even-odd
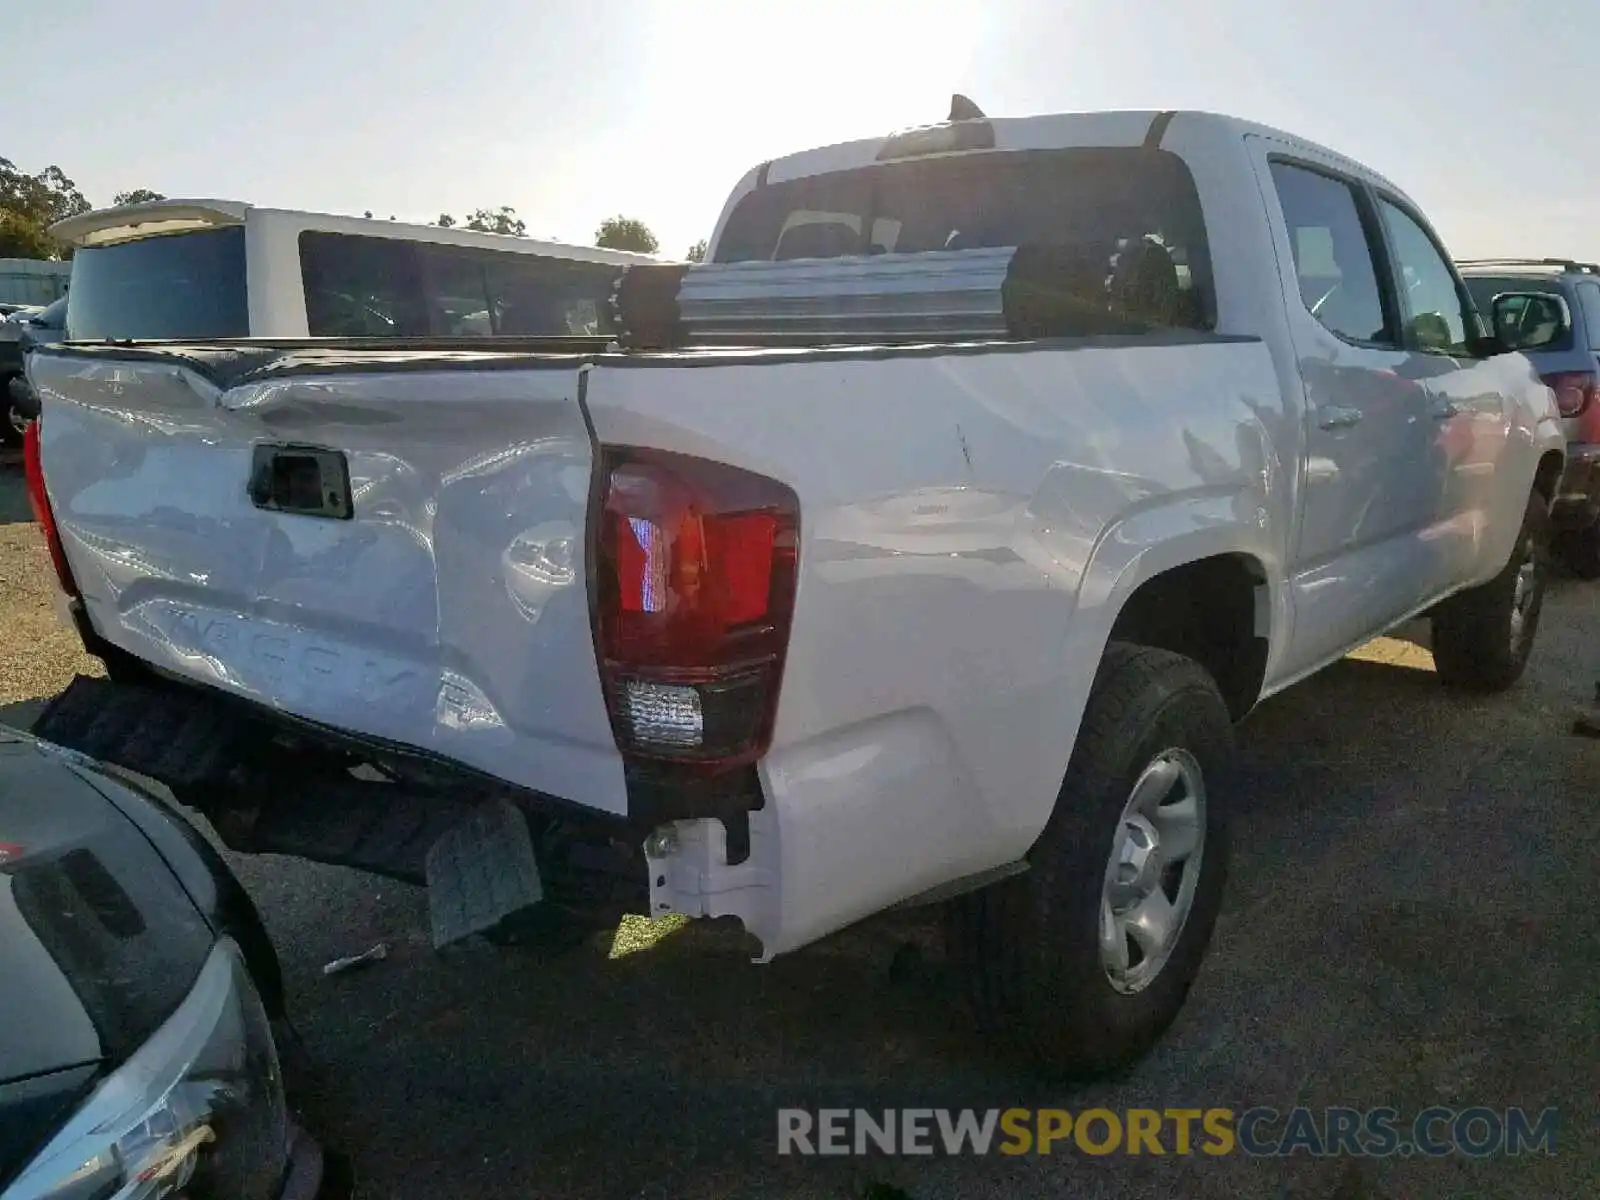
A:
POLYGON ((339 1195, 285 1094, 277 957, 157 797, 0 731, 0 1200, 339 1195))

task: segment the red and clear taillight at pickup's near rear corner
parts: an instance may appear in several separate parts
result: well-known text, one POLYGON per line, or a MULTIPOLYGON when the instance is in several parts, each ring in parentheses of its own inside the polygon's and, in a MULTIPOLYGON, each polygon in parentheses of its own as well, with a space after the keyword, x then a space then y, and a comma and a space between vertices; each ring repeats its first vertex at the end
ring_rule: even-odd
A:
POLYGON ((773 736, 795 602, 786 485, 653 450, 600 451, 595 648, 618 749, 717 771, 773 736))

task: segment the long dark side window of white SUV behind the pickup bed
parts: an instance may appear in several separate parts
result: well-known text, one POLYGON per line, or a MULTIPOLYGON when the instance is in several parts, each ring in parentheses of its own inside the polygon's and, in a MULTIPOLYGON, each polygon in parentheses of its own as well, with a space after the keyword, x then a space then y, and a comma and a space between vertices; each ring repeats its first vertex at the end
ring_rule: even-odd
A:
POLYGON ((621 267, 394 237, 299 235, 314 338, 608 333, 621 267))

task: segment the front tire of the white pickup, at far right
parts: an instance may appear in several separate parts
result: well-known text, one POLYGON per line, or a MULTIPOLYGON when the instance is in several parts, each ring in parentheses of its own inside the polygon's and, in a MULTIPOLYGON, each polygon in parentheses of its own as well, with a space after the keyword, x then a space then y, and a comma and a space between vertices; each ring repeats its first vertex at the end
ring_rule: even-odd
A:
POLYGON ((1501 573, 1486 584, 1453 595, 1434 611, 1434 669, 1438 678, 1466 691, 1504 691, 1522 678, 1539 632, 1549 579, 1550 512, 1544 498, 1533 493, 1522 533, 1501 573))

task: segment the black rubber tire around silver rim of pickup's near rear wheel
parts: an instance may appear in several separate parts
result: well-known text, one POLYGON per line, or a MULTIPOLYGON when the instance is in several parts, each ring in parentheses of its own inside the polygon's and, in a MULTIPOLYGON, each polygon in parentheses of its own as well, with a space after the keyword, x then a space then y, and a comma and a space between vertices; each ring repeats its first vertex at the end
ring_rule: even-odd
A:
POLYGON ((949 907, 950 962, 981 1029, 1019 1061, 1070 1078, 1106 1075, 1149 1051, 1182 1008, 1216 923, 1232 771, 1234 726, 1213 678, 1181 654, 1114 642, 1030 869, 949 907), (1203 779, 1194 899, 1154 978, 1120 990, 1101 957, 1107 866, 1134 782, 1173 749, 1203 779))

